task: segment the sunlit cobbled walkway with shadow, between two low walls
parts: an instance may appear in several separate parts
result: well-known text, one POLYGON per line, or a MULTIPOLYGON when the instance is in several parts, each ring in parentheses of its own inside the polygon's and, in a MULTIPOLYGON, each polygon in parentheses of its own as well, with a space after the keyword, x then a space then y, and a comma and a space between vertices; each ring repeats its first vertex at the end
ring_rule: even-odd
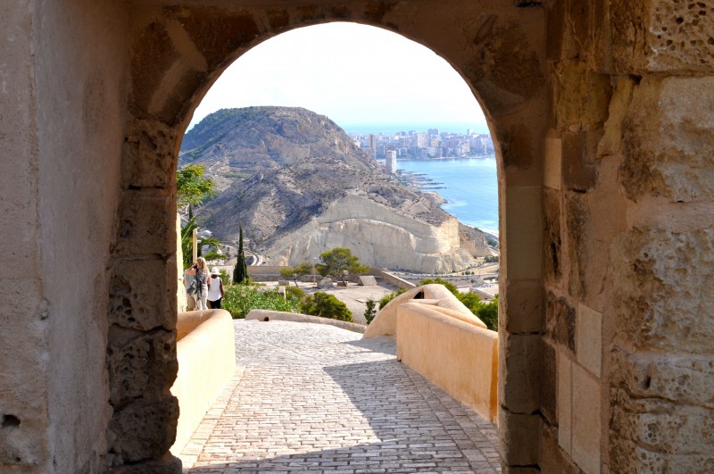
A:
POLYGON ((245 368, 196 430, 186 472, 501 470, 493 424, 397 362, 394 341, 236 321, 245 368))

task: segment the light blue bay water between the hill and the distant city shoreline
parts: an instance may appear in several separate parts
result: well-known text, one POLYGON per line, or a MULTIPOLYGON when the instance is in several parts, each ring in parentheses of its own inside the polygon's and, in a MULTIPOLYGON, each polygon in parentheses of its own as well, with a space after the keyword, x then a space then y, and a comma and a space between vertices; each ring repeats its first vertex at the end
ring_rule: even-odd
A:
POLYGON ((498 235, 498 179, 494 155, 440 160, 397 160, 397 169, 428 179, 423 191, 447 201, 444 211, 470 227, 498 235))

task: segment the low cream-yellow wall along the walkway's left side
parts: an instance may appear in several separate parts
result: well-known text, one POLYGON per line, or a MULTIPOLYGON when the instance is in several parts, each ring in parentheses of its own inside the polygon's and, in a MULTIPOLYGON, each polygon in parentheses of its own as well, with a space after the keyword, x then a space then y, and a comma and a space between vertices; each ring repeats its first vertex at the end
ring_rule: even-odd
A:
POLYGON ((225 310, 179 312, 179 375, 171 394, 179 399, 179 425, 171 453, 179 455, 195 428, 236 371, 233 319, 225 310))

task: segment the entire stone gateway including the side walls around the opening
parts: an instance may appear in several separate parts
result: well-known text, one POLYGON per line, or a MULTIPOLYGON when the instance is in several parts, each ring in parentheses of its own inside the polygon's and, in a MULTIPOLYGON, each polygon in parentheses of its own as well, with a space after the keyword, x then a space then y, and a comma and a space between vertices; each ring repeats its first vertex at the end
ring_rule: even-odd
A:
POLYGON ((708 0, 0 4, 0 466, 178 469, 164 453, 179 134, 247 48, 356 21, 444 56, 492 124, 506 470, 714 470, 712 13, 708 0))

